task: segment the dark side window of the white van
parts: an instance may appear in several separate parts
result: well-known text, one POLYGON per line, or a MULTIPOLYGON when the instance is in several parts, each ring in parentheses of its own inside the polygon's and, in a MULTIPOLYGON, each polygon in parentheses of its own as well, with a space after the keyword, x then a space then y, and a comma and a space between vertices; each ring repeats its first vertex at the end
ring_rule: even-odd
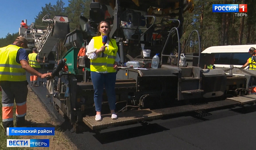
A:
POLYGON ((249 53, 214 53, 214 64, 244 65, 250 57, 252 56, 249 53))

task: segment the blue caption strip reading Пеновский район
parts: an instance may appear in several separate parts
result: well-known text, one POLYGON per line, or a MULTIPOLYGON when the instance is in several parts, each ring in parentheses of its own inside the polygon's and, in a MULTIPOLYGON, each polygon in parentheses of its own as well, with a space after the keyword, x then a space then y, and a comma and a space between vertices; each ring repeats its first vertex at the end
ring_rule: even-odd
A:
POLYGON ((12 127, 6 129, 6 135, 54 135, 54 127, 12 127))

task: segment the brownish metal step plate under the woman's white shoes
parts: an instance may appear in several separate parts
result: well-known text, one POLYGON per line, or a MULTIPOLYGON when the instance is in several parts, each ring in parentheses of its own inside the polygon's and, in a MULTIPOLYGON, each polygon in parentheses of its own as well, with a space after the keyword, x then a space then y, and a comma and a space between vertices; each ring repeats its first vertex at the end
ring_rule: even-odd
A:
POLYGON ((111 126, 125 125, 139 121, 158 119, 162 113, 153 112, 150 109, 131 110, 128 112, 117 113, 118 119, 111 119, 111 114, 102 115, 102 121, 95 121, 95 116, 84 117, 84 123, 91 129, 103 129, 111 126))

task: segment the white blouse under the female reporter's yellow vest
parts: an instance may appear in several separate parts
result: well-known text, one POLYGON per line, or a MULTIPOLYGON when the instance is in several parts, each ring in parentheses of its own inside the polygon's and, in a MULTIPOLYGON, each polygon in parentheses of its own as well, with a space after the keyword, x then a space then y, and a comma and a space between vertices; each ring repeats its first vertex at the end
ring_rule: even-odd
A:
MULTIPOLYGON (((107 41, 107 43, 105 44, 105 46, 108 49, 109 46, 109 41, 107 41)), ((95 52, 96 52, 96 48, 94 48, 94 39, 91 39, 90 43, 87 46, 87 52, 86 52, 86 56, 89 59, 96 59, 98 56, 96 56, 95 52)), ((120 62, 120 57, 119 54, 117 53, 117 56, 115 57, 115 62, 119 63, 120 62)))

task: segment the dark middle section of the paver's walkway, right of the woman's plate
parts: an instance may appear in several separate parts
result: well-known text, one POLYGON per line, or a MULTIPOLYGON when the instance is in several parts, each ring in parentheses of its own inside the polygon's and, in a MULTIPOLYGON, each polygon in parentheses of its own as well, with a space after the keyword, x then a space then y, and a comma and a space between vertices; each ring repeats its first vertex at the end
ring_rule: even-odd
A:
POLYGON ((239 102, 226 99, 226 100, 211 101, 211 102, 195 104, 195 105, 183 105, 183 106, 169 107, 169 108, 163 108, 163 109, 155 109, 152 111, 156 113, 162 113, 163 115, 177 115, 179 113, 194 112, 198 110, 232 106, 236 104, 239 104, 239 102))

